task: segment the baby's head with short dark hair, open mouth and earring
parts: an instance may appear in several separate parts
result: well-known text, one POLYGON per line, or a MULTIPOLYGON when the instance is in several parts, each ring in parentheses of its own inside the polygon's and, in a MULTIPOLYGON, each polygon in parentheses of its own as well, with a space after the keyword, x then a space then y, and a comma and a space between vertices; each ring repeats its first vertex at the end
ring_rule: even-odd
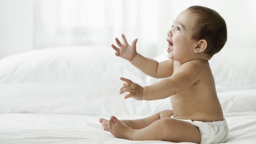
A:
POLYGON ((168 58, 172 60, 210 60, 227 41, 226 22, 215 10, 190 6, 175 19, 167 41, 168 58))

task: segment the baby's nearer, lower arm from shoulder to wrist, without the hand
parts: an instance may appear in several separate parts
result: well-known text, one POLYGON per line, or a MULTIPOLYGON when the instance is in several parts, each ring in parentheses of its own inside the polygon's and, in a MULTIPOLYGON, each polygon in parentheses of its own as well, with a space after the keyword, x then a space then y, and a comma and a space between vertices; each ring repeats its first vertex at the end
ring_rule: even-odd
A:
POLYGON ((177 94, 200 80, 200 65, 189 61, 179 68, 170 78, 160 80, 150 86, 144 86, 144 100, 159 100, 177 94))

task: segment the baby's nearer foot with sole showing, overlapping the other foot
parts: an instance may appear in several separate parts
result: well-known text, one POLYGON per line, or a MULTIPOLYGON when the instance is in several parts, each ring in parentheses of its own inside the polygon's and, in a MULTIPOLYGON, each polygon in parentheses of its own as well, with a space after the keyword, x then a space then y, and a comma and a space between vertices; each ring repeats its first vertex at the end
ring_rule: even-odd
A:
POLYGON ((111 134, 116 138, 131 140, 132 129, 118 120, 115 116, 111 116, 108 122, 108 128, 111 134))

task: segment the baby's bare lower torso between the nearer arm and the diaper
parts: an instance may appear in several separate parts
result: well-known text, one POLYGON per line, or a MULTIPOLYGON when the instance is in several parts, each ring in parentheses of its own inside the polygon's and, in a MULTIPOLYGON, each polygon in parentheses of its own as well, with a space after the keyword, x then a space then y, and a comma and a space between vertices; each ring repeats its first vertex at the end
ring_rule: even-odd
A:
POLYGON ((170 97, 172 110, 177 119, 212 122, 223 120, 223 112, 218 97, 210 96, 181 96, 170 97))

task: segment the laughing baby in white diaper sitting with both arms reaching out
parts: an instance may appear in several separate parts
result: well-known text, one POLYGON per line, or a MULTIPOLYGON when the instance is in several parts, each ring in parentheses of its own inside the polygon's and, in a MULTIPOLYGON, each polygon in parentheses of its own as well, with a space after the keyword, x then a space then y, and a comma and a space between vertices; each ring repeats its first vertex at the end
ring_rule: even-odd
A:
POLYGON ((140 86, 126 78, 120 94, 136 100, 170 97, 172 110, 163 110, 137 120, 100 118, 104 130, 128 140, 164 140, 217 144, 225 142, 228 125, 216 94, 208 60, 227 40, 225 20, 210 8, 191 6, 182 11, 167 32, 168 60, 158 63, 136 52, 135 39, 129 45, 122 34, 120 48, 112 44, 116 56, 129 60, 145 74, 165 78, 150 86, 140 86))

